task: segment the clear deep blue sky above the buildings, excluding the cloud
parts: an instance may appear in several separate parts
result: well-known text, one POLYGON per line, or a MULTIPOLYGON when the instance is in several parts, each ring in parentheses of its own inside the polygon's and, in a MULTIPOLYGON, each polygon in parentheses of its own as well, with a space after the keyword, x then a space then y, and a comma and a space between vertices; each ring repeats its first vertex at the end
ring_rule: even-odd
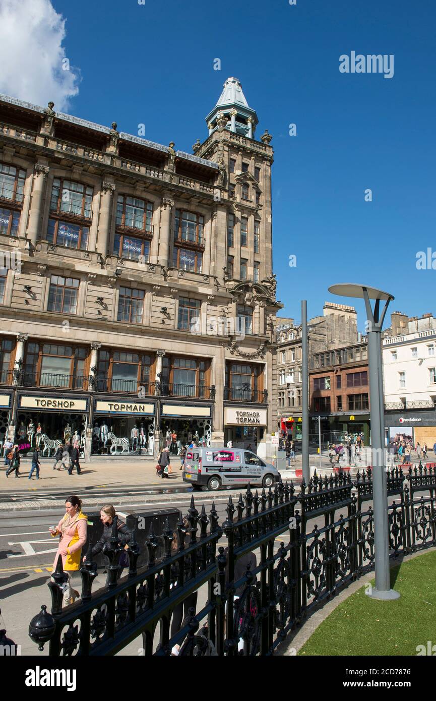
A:
MULTIPOLYGON (((174 139, 191 152, 207 137, 204 117, 224 80, 240 79, 259 116, 258 137, 265 128, 273 135, 281 315, 299 320, 301 299, 310 316, 325 300, 352 304, 327 292, 336 282, 392 292, 390 311, 436 312, 436 271, 416 269, 418 251, 436 251, 434 2, 52 4, 67 20, 64 55, 80 70, 71 114, 115 120, 132 134, 144 123, 147 138, 174 139), (352 50, 393 54, 393 78, 341 74, 339 56, 352 50), (213 70, 216 57, 221 71, 213 70)), ((355 306, 363 330, 366 315, 355 306)))

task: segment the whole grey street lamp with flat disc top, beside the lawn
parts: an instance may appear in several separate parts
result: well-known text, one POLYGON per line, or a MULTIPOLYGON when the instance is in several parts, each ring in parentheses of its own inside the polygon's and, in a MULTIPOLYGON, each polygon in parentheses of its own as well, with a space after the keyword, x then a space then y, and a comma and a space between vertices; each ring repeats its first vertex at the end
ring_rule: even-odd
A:
POLYGON ((392 294, 366 285, 346 283, 332 285, 329 292, 340 297, 356 297, 365 300, 368 331, 369 394, 371 396, 371 444, 372 444, 372 497, 374 501, 374 552, 376 586, 369 594, 373 599, 398 599, 400 594, 390 588, 388 548, 388 487, 383 465, 385 447, 385 422, 383 401, 383 369, 381 355, 381 328, 394 299, 392 294), (374 311, 369 300, 374 299, 374 311), (384 301, 380 311, 380 302, 384 301))

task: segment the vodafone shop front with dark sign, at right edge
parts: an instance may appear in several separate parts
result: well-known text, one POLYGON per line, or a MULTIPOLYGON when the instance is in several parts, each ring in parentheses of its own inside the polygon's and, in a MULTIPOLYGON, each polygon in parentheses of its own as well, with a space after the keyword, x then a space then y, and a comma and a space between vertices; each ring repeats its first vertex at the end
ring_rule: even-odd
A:
POLYGON ((421 446, 426 443, 430 450, 436 442, 435 411, 388 411, 385 414, 386 441, 411 440, 421 446))

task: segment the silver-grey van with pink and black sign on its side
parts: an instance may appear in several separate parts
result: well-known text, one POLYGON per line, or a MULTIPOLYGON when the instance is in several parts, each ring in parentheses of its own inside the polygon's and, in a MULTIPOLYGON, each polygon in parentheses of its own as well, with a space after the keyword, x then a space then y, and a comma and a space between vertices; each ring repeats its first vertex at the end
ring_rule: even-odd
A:
POLYGON ((273 486, 280 472, 250 450, 239 448, 192 448, 186 452, 184 482, 216 491, 221 486, 273 486))

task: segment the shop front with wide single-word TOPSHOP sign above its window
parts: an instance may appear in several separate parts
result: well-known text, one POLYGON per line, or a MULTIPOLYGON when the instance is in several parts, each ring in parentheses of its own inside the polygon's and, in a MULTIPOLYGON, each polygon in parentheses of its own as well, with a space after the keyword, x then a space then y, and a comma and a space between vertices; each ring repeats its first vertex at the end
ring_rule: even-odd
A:
POLYGON ((43 458, 70 444, 79 448, 83 457, 87 421, 87 397, 19 395, 15 442, 24 454, 39 448, 43 458))

